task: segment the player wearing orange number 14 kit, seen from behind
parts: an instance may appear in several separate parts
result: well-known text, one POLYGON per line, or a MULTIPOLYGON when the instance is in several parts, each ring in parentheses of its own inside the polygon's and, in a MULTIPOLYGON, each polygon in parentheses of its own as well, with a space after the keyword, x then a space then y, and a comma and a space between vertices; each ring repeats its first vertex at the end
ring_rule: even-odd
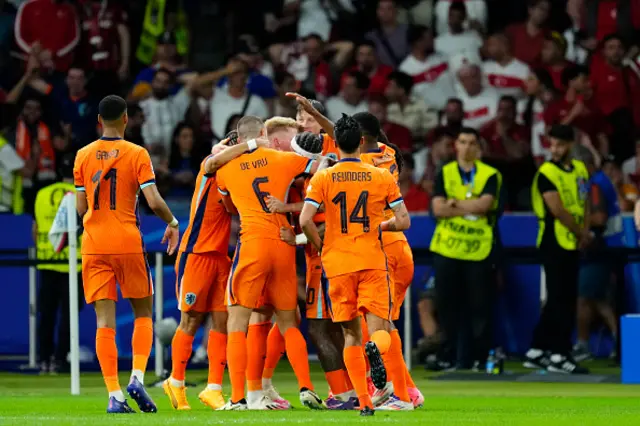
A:
MULTIPOLYGON (((322 252, 331 315, 341 324, 345 337, 344 363, 358 395, 361 415, 367 416, 373 415, 374 407, 367 389, 360 313, 365 315, 371 335, 365 352, 373 383, 383 389, 387 383, 385 364, 394 384, 396 378, 404 378, 405 371, 402 344, 389 334, 393 329, 392 285, 380 233, 407 229, 411 219, 389 171, 360 161, 362 136, 358 123, 343 115, 334 131, 341 160, 311 179, 300 224, 309 241, 322 252), (313 221, 321 204, 325 206, 324 242, 313 221), (385 216, 387 206, 394 212, 390 219, 385 216)), ((388 401, 378 409, 412 410, 408 399, 393 398, 389 400, 393 404, 388 401)))

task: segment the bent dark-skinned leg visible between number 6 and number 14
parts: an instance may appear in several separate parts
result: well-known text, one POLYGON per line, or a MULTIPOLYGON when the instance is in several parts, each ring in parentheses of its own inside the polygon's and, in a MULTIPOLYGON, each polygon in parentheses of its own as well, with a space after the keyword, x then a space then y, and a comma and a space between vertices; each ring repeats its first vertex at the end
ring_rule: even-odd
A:
POLYGON ((311 342, 318 349, 318 359, 333 394, 325 401, 326 407, 353 410, 356 394, 344 366, 344 337, 340 326, 327 319, 309 319, 308 330, 311 342))

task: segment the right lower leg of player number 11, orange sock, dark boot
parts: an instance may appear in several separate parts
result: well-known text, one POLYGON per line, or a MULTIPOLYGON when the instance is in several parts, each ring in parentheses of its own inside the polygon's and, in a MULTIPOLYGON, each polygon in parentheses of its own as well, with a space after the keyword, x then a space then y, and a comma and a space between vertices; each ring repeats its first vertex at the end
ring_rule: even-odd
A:
POLYGON ((131 338, 133 366, 127 393, 136 401, 140 411, 155 413, 158 408, 144 388, 144 373, 147 370, 147 363, 153 346, 153 320, 151 319, 151 315, 153 315, 153 296, 129 299, 129 303, 133 309, 135 320, 131 338))

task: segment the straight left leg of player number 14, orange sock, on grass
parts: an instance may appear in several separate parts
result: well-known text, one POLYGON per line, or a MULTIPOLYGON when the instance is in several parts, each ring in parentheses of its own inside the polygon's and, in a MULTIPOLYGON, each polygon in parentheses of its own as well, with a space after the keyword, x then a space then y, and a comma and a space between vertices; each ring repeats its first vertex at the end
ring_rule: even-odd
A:
POLYGON ((374 413, 373 402, 367 388, 367 365, 362 349, 360 317, 357 316, 351 321, 341 322, 340 326, 344 334, 344 364, 360 401, 360 415, 372 416, 374 413))

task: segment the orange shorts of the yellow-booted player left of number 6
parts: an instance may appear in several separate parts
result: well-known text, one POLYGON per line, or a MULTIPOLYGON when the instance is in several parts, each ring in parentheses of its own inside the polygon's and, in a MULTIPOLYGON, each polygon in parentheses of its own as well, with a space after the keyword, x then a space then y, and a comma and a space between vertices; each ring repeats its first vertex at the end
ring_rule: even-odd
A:
POLYGON ((176 259, 176 295, 181 312, 224 312, 231 261, 220 253, 184 253, 176 259))

